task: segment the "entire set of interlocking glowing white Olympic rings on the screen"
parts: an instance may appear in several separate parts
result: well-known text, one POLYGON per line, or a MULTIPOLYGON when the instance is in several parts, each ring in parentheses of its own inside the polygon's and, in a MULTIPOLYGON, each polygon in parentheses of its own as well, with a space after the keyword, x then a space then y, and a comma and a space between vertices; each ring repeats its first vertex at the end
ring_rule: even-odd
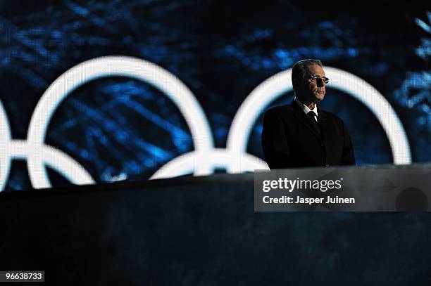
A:
MULTIPOLYGON (((404 128, 385 98, 353 74, 325 67, 331 86, 349 93, 365 104, 382 124, 392 148, 394 164, 411 162, 410 148, 404 128), (377 113, 378 110, 378 113, 377 113)), ((251 129, 258 115, 276 98, 292 90, 289 83, 292 70, 266 79, 250 93, 240 106, 227 137, 227 148, 214 148, 211 128, 204 111, 193 93, 173 74, 146 60, 125 56, 94 58, 61 74, 37 103, 27 133, 27 141, 11 139, 10 127, 0 102, 0 190, 4 189, 11 169, 11 160, 26 160, 34 188, 50 188, 44 164, 58 171, 75 184, 94 183, 93 178, 73 158, 61 150, 44 144, 46 129, 58 105, 77 87, 101 77, 131 77, 153 85, 173 100, 190 128, 194 150, 180 155, 158 169, 151 178, 165 178, 194 173, 213 173, 215 167, 228 172, 268 169, 260 158, 246 153, 251 129)))

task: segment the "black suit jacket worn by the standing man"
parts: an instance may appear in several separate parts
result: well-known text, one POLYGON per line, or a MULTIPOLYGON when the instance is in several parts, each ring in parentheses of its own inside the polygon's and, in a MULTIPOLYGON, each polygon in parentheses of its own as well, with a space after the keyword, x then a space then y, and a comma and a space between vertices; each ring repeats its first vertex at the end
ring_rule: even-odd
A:
POLYGON ((262 147, 270 169, 355 164, 342 119, 320 109, 318 115, 320 136, 294 100, 265 112, 262 147))

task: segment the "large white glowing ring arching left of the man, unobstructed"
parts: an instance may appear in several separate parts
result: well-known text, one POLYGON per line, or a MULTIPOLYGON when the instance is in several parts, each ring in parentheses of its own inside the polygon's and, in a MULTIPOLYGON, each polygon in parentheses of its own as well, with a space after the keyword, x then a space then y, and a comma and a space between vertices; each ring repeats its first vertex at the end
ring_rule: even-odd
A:
MULTIPOLYGON (((56 157, 51 157, 53 153, 44 153, 48 157, 42 157, 41 152, 46 129, 58 105, 82 84, 93 79, 112 76, 131 77, 142 80, 155 86, 156 89, 161 90, 168 98, 173 100, 185 117, 185 121, 192 133, 194 148, 198 154, 196 156, 196 174, 211 174, 211 165, 206 160, 206 153, 213 148, 211 129, 201 105, 199 105, 187 86, 173 74, 154 63, 126 56, 107 56, 87 60, 61 74, 46 89, 42 98, 37 103, 30 119, 27 133, 27 144, 30 147, 27 166, 32 186, 35 188, 51 187, 49 179, 46 176, 46 170, 44 169, 44 160, 54 162, 55 169, 63 169, 60 162, 58 162, 59 164, 55 164, 56 157)), ((69 175, 79 178, 83 171, 85 170, 73 172, 69 175)), ((92 183, 85 180, 84 177, 80 181, 82 183, 92 183)))

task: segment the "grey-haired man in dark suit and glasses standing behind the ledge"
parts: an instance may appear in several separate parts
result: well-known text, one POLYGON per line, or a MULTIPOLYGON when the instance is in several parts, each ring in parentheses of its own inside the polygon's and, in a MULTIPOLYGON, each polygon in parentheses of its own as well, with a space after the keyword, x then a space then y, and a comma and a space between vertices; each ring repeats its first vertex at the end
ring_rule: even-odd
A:
POLYGON ((325 98, 327 82, 320 60, 300 60, 292 67, 294 100, 263 117, 262 147, 270 169, 356 163, 342 119, 316 106, 325 98))

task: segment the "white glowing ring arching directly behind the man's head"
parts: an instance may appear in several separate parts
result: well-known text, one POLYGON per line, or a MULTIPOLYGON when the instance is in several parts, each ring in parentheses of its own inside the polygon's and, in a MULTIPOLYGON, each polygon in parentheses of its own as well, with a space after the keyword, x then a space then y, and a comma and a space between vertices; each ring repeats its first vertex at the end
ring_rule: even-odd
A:
MULTIPOLYGON (((328 87, 342 90, 361 101, 377 117, 387 134, 392 150, 394 164, 410 164, 411 152, 406 131, 396 116, 396 112, 384 96, 373 86, 356 75, 339 70, 335 67, 325 67, 325 73, 330 77, 328 87)), ((232 157, 228 171, 240 171, 242 153, 246 152, 251 129, 256 119, 273 100, 282 94, 292 91, 292 69, 279 72, 259 84, 239 107, 232 120, 227 136, 227 150, 232 157)))

